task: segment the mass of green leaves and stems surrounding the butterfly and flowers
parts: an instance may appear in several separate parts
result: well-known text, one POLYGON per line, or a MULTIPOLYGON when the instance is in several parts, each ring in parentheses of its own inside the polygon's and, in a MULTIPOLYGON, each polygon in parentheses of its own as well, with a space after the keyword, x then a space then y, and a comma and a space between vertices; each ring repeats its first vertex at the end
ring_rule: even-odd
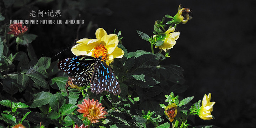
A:
MULTIPOLYGON (((5 17, 0 15, 0 20, 4 19, 5 17)), ((164 19, 156 21, 154 34, 160 35, 165 32, 165 29, 162 29, 167 27, 163 24, 164 19)), ((174 127, 180 125, 179 122, 182 127, 189 126, 186 124, 187 117, 192 114, 186 105, 193 97, 184 98, 179 102, 179 96, 174 96, 174 93, 184 92, 187 86, 183 85, 183 69, 180 66, 161 63, 167 59, 168 52, 128 52, 121 44, 123 37, 119 31, 117 36, 120 44, 117 47, 124 51, 124 56, 114 59, 110 65, 120 83, 121 94, 103 92, 96 95, 88 86, 82 94, 78 90, 70 89, 68 95, 65 90, 68 76, 58 70, 58 62, 52 61, 49 57, 36 57, 31 43, 34 43, 37 35, 25 33, 15 37, 7 34, 9 25, 1 25, 0 127, 22 124, 27 128, 73 128, 75 124, 88 124, 100 128, 169 128, 171 124, 174 127), (16 49, 13 49, 14 44, 16 49), (105 106, 108 113, 106 119, 94 124, 83 119, 84 117, 76 111, 76 105, 87 98, 97 99, 105 106), (178 106, 175 118, 178 123, 175 124, 169 122, 164 115, 165 110, 162 109, 171 103, 178 106)), ((142 39, 151 43, 152 49, 153 44, 161 46, 164 43, 154 37, 151 38, 148 34, 137 32, 142 39)), ((200 102, 192 107, 199 109, 200 102)))

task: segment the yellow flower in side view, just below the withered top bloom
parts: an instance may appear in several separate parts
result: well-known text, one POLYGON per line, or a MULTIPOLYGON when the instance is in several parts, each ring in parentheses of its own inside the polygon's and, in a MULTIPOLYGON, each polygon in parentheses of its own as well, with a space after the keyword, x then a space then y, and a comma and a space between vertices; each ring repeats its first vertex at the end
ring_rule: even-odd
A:
POLYGON ((176 44, 176 40, 180 36, 180 32, 174 32, 175 28, 171 27, 168 29, 162 37, 164 38, 164 43, 161 46, 155 46, 155 48, 159 47, 160 49, 164 50, 166 52, 166 49, 169 50, 173 48, 173 46, 176 44))

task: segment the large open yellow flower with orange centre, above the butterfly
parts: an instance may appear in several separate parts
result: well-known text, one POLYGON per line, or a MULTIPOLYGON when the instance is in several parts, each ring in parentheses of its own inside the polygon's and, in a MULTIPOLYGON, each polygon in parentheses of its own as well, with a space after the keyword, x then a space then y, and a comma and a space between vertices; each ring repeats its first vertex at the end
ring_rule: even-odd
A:
POLYGON ((118 48, 118 37, 116 34, 107 34, 103 28, 98 28, 95 33, 96 39, 80 39, 72 49, 75 55, 89 55, 95 58, 102 56, 107 65, 109 65, 114 58, 122 58, 124 52, 118 48))

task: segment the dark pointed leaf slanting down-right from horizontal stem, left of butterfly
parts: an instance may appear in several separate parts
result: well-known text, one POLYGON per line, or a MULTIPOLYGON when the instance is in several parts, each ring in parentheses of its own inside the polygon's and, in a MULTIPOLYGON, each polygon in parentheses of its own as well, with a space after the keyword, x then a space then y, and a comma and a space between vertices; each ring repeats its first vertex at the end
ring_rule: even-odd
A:
POLYGON ((41 86, 45 89, 49 89, 49 85, 48 82, 43 79, 43 77, 41 75, 39 75, 38 73, 34 73, 34 74, 26 74, 28 76, 30 76, 30 78, 38 85, 41 86))

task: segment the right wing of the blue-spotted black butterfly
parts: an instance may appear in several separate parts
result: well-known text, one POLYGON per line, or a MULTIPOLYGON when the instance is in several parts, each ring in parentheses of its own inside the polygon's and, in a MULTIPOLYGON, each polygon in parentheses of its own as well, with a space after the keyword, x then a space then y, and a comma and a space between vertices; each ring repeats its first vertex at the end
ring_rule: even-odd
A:
POLYGON ((97 66, 95 78, 91 83, 91 91, 96 91, 96 94, 103 91, 108 91, 114 95, 119 95, 121 93, 116 75, 114 75, 112 69, 102 61, 100 61, 97 66))

